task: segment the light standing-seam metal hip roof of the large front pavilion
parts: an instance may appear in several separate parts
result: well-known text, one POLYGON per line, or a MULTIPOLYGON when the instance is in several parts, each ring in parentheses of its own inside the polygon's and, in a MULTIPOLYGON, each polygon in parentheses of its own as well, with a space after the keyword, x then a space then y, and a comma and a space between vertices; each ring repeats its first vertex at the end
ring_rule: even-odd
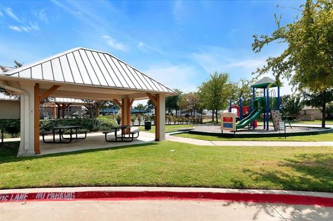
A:
POLYGON ((169 87, 119 58, 87 48, 73 48, 1 75, 95 87, 174 93, 169 87))

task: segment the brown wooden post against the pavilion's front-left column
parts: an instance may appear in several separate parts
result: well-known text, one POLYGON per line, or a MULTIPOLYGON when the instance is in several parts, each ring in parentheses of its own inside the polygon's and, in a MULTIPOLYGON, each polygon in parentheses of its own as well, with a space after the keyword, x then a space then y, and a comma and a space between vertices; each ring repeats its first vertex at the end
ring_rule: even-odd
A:
POLYGON ((36 83, 33 99, 33 145, 35 154, 40 154, 40 84, 36 83))

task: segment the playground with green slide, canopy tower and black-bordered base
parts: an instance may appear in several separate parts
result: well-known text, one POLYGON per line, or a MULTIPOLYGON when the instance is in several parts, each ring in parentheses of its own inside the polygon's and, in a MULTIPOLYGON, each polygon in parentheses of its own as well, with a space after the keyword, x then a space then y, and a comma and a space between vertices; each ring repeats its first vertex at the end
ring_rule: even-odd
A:
POLYGON ((220 137, 273 137, 325 134, 332 128, 292 126, 280 113, 280 85, 265 77, 251 85, 250 100, 230 100, 227 113, 221 114, 221 126, 198 125, 189 134, 220 137), (244 105, 247 103, 248 105, 244 105))

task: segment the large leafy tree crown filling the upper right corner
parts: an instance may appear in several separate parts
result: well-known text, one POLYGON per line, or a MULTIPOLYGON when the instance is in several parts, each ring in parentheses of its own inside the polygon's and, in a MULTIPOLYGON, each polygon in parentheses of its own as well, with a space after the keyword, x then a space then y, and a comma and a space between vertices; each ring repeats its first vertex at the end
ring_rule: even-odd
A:
POLYGON ((255 53, 271 42, 287 44, 256 72, 272 71, 278 83, 280 78, 288 78, 300 90, 324 91, 333 85, 333 3, 307 0, 301 8, 300 19, 282 26, 281 17, 275 15, 278 28, 271 35, 253 36, 255 53))

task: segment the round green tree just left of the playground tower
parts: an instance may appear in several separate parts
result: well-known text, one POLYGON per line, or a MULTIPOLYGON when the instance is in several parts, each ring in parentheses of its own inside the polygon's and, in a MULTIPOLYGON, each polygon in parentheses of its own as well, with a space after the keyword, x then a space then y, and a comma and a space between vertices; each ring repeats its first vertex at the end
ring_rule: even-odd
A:
POLYGON ((216 123, 219 122, 217 112, 228 107, 228 100, 232 94, 232 84, 229 82, 228 73, 213 73, 210 80, 203 82, 198 90, 201 105, 212 110, 212 121, 214 114, 216 123))

